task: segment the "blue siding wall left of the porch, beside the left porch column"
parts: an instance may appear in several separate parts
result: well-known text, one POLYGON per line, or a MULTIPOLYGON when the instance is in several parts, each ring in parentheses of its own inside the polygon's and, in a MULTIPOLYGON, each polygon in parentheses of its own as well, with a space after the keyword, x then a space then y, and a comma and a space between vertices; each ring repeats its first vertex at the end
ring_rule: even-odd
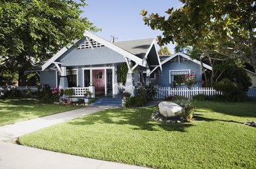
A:
POLYGON ((42 85, 48 84, 51 86, 51 88, 55 88, 56 87, 56 71, 41 71, 40 83, 42 85))

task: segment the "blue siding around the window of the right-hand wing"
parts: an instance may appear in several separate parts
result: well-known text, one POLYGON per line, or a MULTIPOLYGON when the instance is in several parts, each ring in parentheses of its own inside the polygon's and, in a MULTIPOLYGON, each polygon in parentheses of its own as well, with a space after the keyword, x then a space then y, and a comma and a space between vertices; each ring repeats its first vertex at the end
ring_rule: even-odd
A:
MULTIPOLYGON (((158 72, 159 75, 159 86, 169 87, 169 71, 175 70, 190 70, 190 73, 197 74, 197 84, 195 86, 201 87, 201 66, 191 60, 182 61, 182 62, 166 62, 162 64, 162 72, 158 72)), ((184 86, 185 87, 185 86, 184 86)))

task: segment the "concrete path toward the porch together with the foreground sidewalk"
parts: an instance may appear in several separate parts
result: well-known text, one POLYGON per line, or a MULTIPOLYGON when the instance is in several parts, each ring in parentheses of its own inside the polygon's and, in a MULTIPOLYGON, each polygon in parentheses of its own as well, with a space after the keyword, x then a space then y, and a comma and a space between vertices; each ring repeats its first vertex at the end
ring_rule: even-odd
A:
POLYGON ((98 159, 67 155, 10 143, 23 134, 111 108, 115 107, 86 107, 37 119, 21 121, 12 125, 1 126, 0 169, 143 169, 143 167, 139 166, 105 162, 98 159))

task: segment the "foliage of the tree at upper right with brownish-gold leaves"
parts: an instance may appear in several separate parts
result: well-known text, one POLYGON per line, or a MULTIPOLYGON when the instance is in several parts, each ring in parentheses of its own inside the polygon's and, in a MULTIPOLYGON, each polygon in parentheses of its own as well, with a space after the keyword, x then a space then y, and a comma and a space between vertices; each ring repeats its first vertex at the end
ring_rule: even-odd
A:
POLYGON ((179 46, 191 46, 211 63, 238 58, 256 72, 255 1, 181 1, 184 7, 168 9, 168 17, 141 12, 145 24, 163 32, 158 36, 160 45, 175 41, 179 46))

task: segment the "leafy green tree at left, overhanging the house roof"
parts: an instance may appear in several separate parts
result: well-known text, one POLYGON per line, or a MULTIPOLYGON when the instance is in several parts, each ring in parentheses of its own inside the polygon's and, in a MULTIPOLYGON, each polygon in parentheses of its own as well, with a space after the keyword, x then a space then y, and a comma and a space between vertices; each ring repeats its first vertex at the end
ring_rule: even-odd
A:
POLYGON ((50 58, 85 30, 96 31, 81 18, 84 0, 3 0, 0 2, 0 56, 19 74, 33 62, 50 58))

